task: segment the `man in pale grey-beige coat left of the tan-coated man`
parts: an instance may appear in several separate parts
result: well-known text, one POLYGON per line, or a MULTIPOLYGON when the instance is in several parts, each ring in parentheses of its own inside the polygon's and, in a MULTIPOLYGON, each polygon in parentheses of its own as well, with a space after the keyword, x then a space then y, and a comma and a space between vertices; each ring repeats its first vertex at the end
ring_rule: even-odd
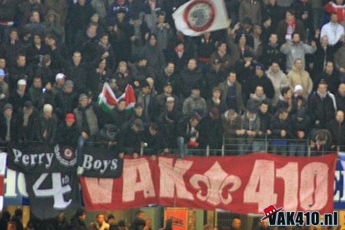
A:
POLYGON ((279 100, 280 92, 282 88, 288 86, 288 79, 283 73, 282 70, 279 68, 279 64, 276 61, 272 62, 272 65, 268 70, 266 71, 266 75, 268 79, 270 79, 270 82, 273 84, 273 88, 275 89, 275 95, 271 101, 273 106, 277 105, 277 102, 279 100))

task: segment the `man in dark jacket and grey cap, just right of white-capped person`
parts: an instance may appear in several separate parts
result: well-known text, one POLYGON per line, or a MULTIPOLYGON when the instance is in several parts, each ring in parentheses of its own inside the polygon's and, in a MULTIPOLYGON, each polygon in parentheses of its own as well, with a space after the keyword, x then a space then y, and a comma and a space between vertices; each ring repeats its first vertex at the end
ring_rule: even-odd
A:
POLYGON ((74 90, 74 84, 71 80, 67 80, 63 86, 63 90, 57 93, 55 97, 56 113, 60 119, 63 119, 67 113, 73 113, 73 109, 78 106, 77 93, 74 90))

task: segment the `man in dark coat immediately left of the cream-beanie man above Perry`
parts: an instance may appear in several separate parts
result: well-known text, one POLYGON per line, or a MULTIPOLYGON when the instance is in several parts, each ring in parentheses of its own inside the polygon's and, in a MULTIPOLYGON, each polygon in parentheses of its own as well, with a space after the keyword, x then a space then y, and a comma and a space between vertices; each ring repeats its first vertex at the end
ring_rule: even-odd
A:
POLYGON ((35 133, 33 131, 37 128, 38 118, 39 112, 33 107, 31 101, 26 101, 24 106, 19 108, 17 113, 17 133, 19 143, 27 144, 34 140, 35 133))

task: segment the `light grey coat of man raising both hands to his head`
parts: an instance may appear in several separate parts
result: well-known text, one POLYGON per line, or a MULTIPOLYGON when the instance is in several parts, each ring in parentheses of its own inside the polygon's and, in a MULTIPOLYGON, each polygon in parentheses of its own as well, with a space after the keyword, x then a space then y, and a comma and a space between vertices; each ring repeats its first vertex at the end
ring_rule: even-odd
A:
POLYGON ((283 44, 280 51, 286 55, 286 72, 290 71, 296 59, 302 59, 303 65, 306 63, 306 54, 313 54, 316 47, 309 46, 300 42, 297 46, 295 44, 283 44))

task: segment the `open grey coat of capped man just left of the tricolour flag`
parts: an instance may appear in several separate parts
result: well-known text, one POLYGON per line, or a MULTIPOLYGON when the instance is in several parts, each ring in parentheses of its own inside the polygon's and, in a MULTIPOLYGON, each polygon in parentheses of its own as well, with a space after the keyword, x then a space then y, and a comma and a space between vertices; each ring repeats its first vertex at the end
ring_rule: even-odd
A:
POLYGON ((75 120, 77 122, 79 132, 86 132, 90 136, 94 136, 99 131, 98 128, 98 119, 97 114, 93 106, 88 106, 86 108, 75 108, 73 111, 75 114, 75 120), (83 115, 85 113, 85 116, 83 115), (86 122, 83 121, 83 118, 86 118, 86 122), (87 127, 84 127, 84 124, 87 124, 87 127))

